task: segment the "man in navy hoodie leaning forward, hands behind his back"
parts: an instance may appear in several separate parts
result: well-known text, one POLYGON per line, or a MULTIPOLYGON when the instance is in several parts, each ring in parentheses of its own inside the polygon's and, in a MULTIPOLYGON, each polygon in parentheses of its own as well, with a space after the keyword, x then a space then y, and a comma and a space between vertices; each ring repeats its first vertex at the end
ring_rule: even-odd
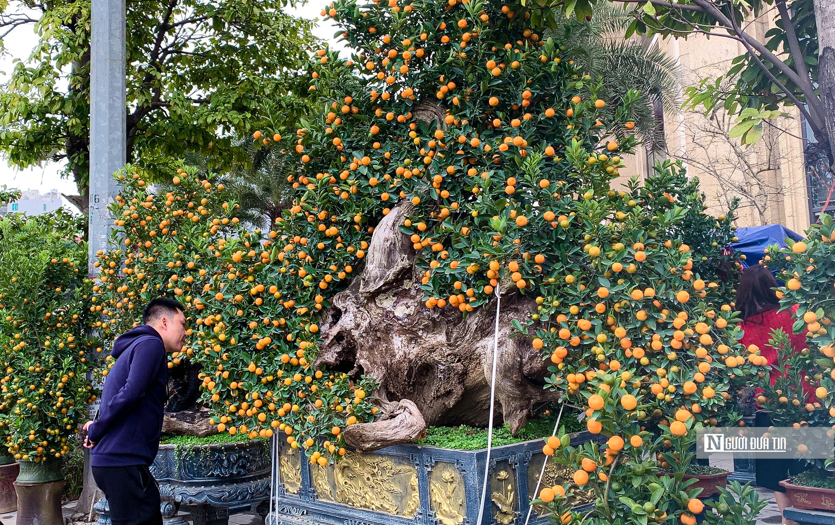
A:
POLYGON ((160 525, 159 488, 149 471, 159 448, 167 395, 165 353, 185 343, 183 306, 148 303, 142 325, 114 343, 116 364, 104 382, 95 421, 84 425, 93 478, 110 504, 114 525, 160 525))

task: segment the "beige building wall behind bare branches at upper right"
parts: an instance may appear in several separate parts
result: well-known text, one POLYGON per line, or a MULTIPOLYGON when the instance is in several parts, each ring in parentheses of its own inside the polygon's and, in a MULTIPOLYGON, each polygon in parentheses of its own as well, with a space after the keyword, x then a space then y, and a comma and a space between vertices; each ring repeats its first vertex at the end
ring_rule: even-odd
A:
MULTIPOLYGON (((765 23, 753 22, 752 26, 756 28, 749 28, 749 32, 761 38, 768 29, 765 23)), ((654 43, 681 64, 685 86, 696 85, 704 77, 721 76, 732 67, 733 58, 745 52, 731 38, 703 35, 656 39, 654 43)), ((744 147, 739 138, 728 137, 734 118, 721 110, 710 115, 681 110, 660 116, 659 107, 656 115, 664 125, 667 152, 653 155, 641 150, 630 156, 630 169, 621 173, 644 177, 656 158, 681 159, 688 175, 699 178, 712 213, 724 213, 731 200, 739 198, 737 226, 779 223, 802 233, 821 208, 822 198, 813 188, 810 193, 809 181, 814 175, 807 173, 804 148, 808 141, 802 119, 795 107, 785 111, 788 117, 770 121, 759 142, 744 147), (815 202, 811 206, 810 197, 815 202)), ((835 203, 827 208, 830 213, 832 208, 835 203)))

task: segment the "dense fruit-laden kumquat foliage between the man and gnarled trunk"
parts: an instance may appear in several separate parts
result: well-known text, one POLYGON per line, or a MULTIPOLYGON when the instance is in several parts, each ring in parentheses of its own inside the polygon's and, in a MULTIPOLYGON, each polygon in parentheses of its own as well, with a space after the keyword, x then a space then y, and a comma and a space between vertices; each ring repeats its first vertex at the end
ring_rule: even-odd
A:
POLYGON ((203 396, 221 432, 281 433, 314 463, 344 453, 342 428, 377 410, 366 400, 374 383, 314 366, 316 316, 367 242, 342 240, 320 210, 307 212, 315 221, 310 238, 280 235, 282 224, 250 229, 224 184, 192 168, 159 193, 130 169, 119 178, 113 245, 124 238, 134 248, 99 253, 89 306, 99 331, 114 338, 132 328, 144 303, 167 293, 185 305, 189 321, 187 344, 170 367, 185 359, 203 365, 203 396), (311 253, 325 241, 336 245, 331 262, 311 268, 311 253))

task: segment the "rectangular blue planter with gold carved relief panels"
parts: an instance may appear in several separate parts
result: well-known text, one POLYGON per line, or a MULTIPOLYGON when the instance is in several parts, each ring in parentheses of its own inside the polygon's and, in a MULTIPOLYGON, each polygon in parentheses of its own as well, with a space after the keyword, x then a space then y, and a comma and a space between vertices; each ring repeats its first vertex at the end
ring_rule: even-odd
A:
MULTIPOLYGON (((599 440, 588 432, 571 434, 571 443, 599 440)), ((372 453, 349 452, 339 463, 311 465, 281 440, 277 513, 267 523, 282 525, 433 525, 482 522, 521 525, 536 493, 545 463, 543 441, 536 439, 493 448, 488 469, 488 498, 479 508, 487 450, 453 450, 397 445, 372 453)), ((563 484, 574 471, 547 463, 543 486, 563 484)), ((575 497, 575 506, 591 502, 575 497)), ((547 509, 534 506, 529 523, 549 522, 547 509)))

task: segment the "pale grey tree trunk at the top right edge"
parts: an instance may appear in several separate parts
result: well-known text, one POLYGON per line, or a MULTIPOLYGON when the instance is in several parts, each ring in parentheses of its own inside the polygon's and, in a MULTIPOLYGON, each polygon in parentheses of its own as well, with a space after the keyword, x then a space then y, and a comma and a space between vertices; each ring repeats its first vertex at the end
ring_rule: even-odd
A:
POLYGON ((835 162, 835 2, 815 0, 817 21, 817 85, 824 109, 830 169, 835 162))

